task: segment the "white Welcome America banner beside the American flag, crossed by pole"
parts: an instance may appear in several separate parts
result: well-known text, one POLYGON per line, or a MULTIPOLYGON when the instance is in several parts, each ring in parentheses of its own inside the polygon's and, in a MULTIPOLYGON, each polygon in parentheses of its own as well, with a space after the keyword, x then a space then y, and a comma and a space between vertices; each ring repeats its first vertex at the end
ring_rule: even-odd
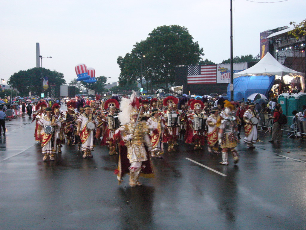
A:
MULTIPOLYGON (((248 63, 233 63, 234 74, 248 68, 248 63)), ((230 64, 217 64, 217 84, 230 83, 230 64)))

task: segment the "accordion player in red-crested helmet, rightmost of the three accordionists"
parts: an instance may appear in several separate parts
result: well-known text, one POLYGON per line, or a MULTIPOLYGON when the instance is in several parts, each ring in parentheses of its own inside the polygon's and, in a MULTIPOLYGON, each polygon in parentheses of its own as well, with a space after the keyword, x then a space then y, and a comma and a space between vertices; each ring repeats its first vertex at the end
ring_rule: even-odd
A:
POLYGON ((188 114, 187 125, 189 126, 185 143, 194 144, 193 149, 202 149, 201 145, 205 144, 205 122, 207 116, 203 113, 204 103, 200 100, 193 100, 190 103, 192 113, 188 114))

